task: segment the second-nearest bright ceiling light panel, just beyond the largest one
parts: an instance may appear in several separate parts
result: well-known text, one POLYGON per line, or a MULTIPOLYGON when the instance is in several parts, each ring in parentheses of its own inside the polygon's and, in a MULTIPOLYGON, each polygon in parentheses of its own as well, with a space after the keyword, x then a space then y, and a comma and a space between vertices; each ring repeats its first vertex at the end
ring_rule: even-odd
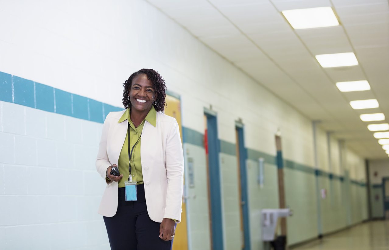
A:
POLYGON ((317 62, 320 63, 323 68, 333 67, 345 67, 358 65, 358 60, 354 53, 337 53, 337 54, 324 54, 315 55, 317 62))

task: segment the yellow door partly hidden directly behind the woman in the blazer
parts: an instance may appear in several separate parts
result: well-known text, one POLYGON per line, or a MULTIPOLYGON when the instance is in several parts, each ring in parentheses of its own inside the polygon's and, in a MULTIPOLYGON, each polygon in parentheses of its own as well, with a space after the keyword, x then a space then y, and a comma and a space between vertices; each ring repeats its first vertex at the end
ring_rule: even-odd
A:
MULTIPOLYGON (((177 120, 180 127, 180 135, 182 141, 182 126, 181 126, 181 102, 179 99, 166 95, 165 98, 167 107, 165 108, 165 114, 172 116, 177 120)), ((182 199, 182 213, 181 222, 177 224, 175 229, 175 236, 173 240, 172 250, 187 250, 188 249, 188 234, 187 234, 187 222, 186 222, 186 204, 185 199, 182 199)))

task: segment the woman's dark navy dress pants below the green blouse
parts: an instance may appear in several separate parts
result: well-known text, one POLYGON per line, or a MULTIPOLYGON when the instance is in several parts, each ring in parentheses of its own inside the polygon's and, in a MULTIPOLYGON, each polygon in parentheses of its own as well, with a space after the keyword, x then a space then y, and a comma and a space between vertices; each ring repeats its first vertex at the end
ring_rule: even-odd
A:
POLYGON ((124 188, 119 188, 117 211, 103 217, 112 250, 170 250, 172 241, 159 238, 161 223, 147 213, 144 185, 137 185, 138 201, 125 201, 124 188))

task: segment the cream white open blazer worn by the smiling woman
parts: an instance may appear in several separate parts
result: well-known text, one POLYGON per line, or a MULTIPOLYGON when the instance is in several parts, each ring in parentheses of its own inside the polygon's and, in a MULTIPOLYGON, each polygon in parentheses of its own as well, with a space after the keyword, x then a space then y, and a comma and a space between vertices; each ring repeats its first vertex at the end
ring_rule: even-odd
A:
MULTIPOLYGON (((110 112, 103 124, 96 169, 104 180, 107 168, 112 164, 119 165, 128 120, 117 122, 124 111, 110 112)), ((179 222, 184 188, 184 155, 178 123, 175 118, 157 112, 156 127, 145 121, 141 140, 140 158, 147 212, 155 222, 162 222, 163 218, 179 222)), ((112 217, 117 210, 118 183, 106 182, 98 213, 112 217)))

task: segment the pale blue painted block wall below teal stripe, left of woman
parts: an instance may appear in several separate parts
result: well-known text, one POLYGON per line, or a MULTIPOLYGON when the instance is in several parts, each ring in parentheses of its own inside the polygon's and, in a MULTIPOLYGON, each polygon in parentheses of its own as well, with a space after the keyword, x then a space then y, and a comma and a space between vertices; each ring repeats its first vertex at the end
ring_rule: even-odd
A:
POLYGON ((0 249, 109 249, 102 124, 0 102, 0 249))

